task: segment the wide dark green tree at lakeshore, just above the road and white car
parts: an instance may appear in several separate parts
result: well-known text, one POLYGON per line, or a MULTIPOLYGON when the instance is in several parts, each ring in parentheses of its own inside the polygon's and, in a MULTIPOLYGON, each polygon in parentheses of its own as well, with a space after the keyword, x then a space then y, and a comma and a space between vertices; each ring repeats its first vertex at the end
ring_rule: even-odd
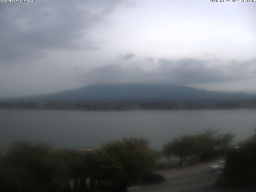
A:
POLYGON ((162 152, 166 157, 178 156, 181 166, 191 158, 207 161, 217 154, 225 155, 234 135, 230 132, 217 135, 217 132, 218 130, 208 129, 198 135, 180 136, 165 144, 162 152))

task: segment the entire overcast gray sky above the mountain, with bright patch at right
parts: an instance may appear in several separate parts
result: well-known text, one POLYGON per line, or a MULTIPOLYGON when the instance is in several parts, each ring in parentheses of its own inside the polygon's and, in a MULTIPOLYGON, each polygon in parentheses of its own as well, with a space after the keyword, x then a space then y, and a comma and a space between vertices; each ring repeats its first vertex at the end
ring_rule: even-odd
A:
POLYGON ((256 3, 0 2, 0 98, 98 83, 256 92, 256 3))

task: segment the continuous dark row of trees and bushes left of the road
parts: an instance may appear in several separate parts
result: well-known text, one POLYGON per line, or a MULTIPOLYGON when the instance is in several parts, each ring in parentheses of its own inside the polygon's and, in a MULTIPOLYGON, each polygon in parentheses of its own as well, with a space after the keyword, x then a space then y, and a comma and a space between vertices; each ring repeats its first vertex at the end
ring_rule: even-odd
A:
POLYGON ((19 141, 0 154, 0 191, 70 192, 73 185, 73 192, 125 192, 155 166, 155 154, 143 138, 107 142, 92 151, 19 141))

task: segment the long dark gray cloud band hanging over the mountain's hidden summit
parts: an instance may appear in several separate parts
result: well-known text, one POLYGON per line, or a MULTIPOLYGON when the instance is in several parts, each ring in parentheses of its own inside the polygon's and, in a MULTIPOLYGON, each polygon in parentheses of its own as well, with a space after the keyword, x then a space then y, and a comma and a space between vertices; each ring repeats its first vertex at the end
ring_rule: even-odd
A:
MULTIPOLYGON (((202 84, 212 82, 231 82, 248 77, 250 66, 255 61, 228 62, 226 65, 217 65, 217 60, 197 60, 186 58, 178 61, 160 60, 159 67, 153 72, 136 70, 117 64, 94 68, 82 77, 86 84, 92 83, 127 83, 147 82, 164 84, 202 84), (211 65, 209 65, 209 63, 211 65), (212 63, 216 63, 213 67, 212 63), (238 69, 240 68, 240 69, 238 69)), ((252 73, 253 71, 251 71, 252 73)))

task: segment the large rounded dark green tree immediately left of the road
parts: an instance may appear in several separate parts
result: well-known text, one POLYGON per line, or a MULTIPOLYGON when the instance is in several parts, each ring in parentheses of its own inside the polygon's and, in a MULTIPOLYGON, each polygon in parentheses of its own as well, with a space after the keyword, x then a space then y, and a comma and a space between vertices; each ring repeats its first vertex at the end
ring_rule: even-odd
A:
POLYGON ((143 138, 130 138, 103 144, 98 153, 100 184, 128 186, 140 182, 156 165, 148 143, 143 138))

